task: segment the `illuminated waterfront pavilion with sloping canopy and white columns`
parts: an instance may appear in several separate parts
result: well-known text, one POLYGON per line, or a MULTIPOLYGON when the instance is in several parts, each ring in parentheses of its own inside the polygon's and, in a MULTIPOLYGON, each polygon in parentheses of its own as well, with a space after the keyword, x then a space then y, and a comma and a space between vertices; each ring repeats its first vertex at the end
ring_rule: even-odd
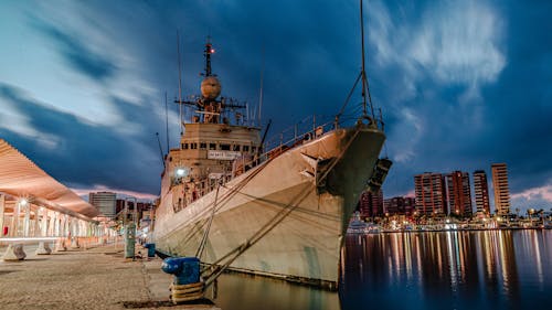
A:
POLYGON ((108 233, 98 210, 0 139, 0 245, 108 233))

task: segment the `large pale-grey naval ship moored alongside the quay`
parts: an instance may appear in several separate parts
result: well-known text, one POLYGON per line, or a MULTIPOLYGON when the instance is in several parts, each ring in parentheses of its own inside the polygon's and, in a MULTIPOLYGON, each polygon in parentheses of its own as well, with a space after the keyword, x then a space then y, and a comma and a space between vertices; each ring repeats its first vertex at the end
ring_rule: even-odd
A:
MULTIPOLYGON (((208 40, 201 96, 178 100, 193 116, 164 157, 157 250, 198 257, 210 275, 233 270, 336 289, 359 195, 376 192, 391 167, 379 158, 382 119, 364 105, 350 126, 338 115, 269 147, 268 128, 262 135, 237 113, 244 105, 221 96, 213 53, 208 40)), ((364 84, 364 71, 360 77, 364 84)))

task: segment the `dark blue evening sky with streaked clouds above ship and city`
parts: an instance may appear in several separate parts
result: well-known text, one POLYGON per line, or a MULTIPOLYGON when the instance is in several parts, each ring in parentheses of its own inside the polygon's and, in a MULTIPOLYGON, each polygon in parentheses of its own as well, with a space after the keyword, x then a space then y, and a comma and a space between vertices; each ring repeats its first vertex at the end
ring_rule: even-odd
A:
MULTIPOLYGON (((429 171, 482 169, 491 186, 490 164, 506 162, 512 207, 552 209, 552 2, 364 2, 394 161, 385 197, 412 195, 429 171)), ((361 67, 359 25, 357 0, 0 1, 0 138, 77 193, 151 199, 178 46, 184 97, 199 94, 208 35, 224 96, 253 108, 263 76, 270 136, 339 111, 361 67)), ((170 147, 178 118, 169 103, 170 147)))

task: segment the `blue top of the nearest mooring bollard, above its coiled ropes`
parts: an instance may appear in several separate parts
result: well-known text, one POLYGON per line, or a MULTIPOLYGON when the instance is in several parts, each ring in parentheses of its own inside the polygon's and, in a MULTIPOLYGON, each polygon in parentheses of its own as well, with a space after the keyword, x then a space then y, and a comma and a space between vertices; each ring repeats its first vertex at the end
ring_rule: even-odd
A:
POLYGON ((174 275, 174 285, 190 285, 200 281, 200 260, 197 257, 166 258, 161 269, 174 275))

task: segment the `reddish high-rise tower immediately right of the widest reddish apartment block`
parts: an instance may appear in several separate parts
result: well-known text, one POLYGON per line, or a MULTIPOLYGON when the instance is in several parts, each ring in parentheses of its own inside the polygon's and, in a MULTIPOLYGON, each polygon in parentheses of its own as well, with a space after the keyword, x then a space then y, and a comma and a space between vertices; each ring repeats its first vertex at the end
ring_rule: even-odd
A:
POLYGON ((458 216, 471 217, 471 191, 469 174, 453 171, 446 174, 448 212, 458 216))

